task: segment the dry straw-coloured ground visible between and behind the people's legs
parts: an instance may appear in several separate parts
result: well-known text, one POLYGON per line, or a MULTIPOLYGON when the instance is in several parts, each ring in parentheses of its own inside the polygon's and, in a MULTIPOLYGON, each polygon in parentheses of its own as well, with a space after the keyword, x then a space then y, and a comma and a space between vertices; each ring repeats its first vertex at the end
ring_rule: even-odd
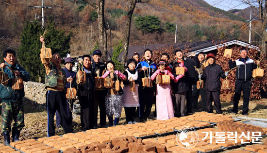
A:
MULTIPOLYGON (((200 104, 201 102, 199 102, 200 104)), ((233 108, 233 102, 221 102, 221 108, 222 108, 222 112, 224 115, 231 115, 232 117, 242 117, 243 115, 241 115, 242 112, 242 104, 243 101, 239 101, 239 112, 238 114, 233 114, 231 113, 231 109, 233 108)), ((267 99, 261 99, 261 100, 254 100, 254 101, 250 101, 250 105, 249 105, 249 115, 247 117, 250 118, 261 118, 261 119, 267 119, 267 99)), ((201 106, 200 106, 201 108, 201 106)), ((150 114, 150 119, 148 120, 153 120, 154 119, 154 115, 153 112, 155 110, 155 105, 152 106, 152 110, 151 110, 151 114, 150 114)), ((40 138, 40 137, 45 137, 47 136, 47 112, 45 110, 40 110, 37 109, 36 106, 34 106, 33 104, 24 102, 24 112, 25 112, 25 127, 23 128, 23 130, 21 131, 21 135, 20 135, 20 140, 24 140, 24 139, 29 139, 29 138, 40 138)), ((201 110, 199 109, 193 109, 194 113, 197 112, 201 112, 201 110)), ((214 110, 214 113, 215 110, 214 110)), ((99 114, 98 114, 98 119, 99 119, 99 114)), ((55 120, 55 118, 54 118, 55 120)), ((136 121, 139 121, 138 118, 135 118, 136 121)), ((243 119, 244 120, 244 119, 243 119)), ((98 120, 99 122, 99 120, 98 120)), ((107 124, 108 124, 108 120, 107 120, 107 124)), ((124 124, 126 125, 126 118, 125 118, 125 111, 124 108, 122 108, 122 112, 121 112, 121 118, 119 120, 119 124, 124 124)), ((1 125, 1 123, 0 123, 1 125)), ((81 121, 80 118, 75 118, 72 121, 72 127, 74 129, 74 132, 80 132, 81 131, 81 121)), ((214 127, 217 128, 217 127, 214 127)), ((64 131, 62 128, 56 128, 55 129, 55 133, 56 135, 63 135, 64 131)), ((10 134, 11 136, 11 134, 10 134)), ((263 138, 261 141, 264 142, 265 139, 267 138, 263 138)), ((0 143, 3 143, 3 134, 2 132, 0 132, 0 143)), ((244 148, 244 147, 241 147, 244 148)), ((234 151, 234 150, 239 150, 240 148, 237 149, 230 149, 230 150, 226 150, 223 151, 221 153, 227 153, 230 151, 234 151)))

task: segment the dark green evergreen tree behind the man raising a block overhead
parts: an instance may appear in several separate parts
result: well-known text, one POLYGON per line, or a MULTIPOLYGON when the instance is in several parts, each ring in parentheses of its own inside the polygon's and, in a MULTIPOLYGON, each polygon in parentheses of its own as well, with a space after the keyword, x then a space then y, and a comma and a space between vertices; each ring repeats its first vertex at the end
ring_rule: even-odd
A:
MULTIPOLYGON (((65 57, 69 53, 72 32, 65 36, 64 30, 54 28, 53 18, 50 16, 48 19, 49 24, 46 27, 48 31, 44 36, 45 45, 47 48, 51 48, 52 54, 58 53, 61 57, 65 57)), ((31 74, 31 81, 39 83, 44 83, 45 80, 45 68, 39 55, 42 48, 39 37, 43 33, 44 29, 39 23, 26 21, 17 54, 19 64, 31 74)))

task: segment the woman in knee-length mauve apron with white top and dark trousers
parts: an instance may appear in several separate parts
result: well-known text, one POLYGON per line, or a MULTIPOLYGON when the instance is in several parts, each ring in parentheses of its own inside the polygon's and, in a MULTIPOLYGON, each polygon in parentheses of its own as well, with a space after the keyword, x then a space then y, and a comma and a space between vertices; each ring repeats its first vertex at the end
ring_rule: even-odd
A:
POLYGON ((141 83, 141 74, 135 69, 136 61, 130 58, 127 61, 127 68, 123 72, 127 80, 123 81, 123 95, 121 103, 125 110, 126 121, 128 124, 137 123, 134 121, 135 107, 139 106, 138 84, 141 83))

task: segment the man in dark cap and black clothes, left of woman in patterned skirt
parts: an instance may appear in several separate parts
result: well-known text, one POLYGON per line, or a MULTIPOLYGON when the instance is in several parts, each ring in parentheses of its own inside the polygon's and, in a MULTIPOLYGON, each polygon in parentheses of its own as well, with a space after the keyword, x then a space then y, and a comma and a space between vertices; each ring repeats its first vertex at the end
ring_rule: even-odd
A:
MULTIPOLYGON (((95 50, 93 52, 93 61, 92 61, 92 72, 94 73, 94 77, 97 76, 97 73, 99 76, 102 76, 102 72, 105 69, 105 65, 100 62, 101 58, 101 51, 100 50, 95 50)), ((94 114, 94 128, 97 128, 98 126, 98 107, 100 110, 100 127, 103 127, 106 125, 106 106, 105 106, 105 96, 103 94, 103 90, 100 88, 95 88, 95 93, 94 93, 94 101, 95 101, 95 114, 94 114)))

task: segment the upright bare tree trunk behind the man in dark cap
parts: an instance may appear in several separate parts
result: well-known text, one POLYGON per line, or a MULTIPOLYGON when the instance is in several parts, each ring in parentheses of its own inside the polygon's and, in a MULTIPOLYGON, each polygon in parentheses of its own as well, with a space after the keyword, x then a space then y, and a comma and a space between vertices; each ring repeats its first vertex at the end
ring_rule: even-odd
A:
POLYGON ((99 28, 99 46, 100 51, 102 51, 101 60, 107 60, 107 32, 106 32, 106 25, 105 25, 105 17, 104 17, 104 10, 105 10, 105 0, 83 0, 84 2, 91 5, 94 9, 97 10, 98 14, 98 28, 99 28))

